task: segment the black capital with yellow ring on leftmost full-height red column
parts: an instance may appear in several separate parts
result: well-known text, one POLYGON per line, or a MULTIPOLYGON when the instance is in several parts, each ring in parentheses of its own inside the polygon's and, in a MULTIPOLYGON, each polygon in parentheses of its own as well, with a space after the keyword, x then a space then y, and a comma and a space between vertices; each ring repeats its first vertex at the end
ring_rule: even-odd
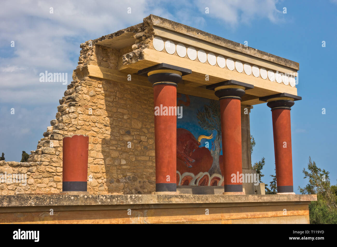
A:
POLYGON ((177 86, 177 83, 182 80, 182 76, 191 73, 192 71, 189 69, 164 63, 138 71, 139 75, 148 76, 148 80, 153 86, 160 84, 177 86))

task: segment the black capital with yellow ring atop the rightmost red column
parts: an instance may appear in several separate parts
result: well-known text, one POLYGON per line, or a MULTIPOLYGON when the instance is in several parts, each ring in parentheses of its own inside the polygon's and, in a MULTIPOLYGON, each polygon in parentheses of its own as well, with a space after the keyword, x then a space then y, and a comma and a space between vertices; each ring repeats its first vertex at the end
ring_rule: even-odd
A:
POLYGON ((270 107, 272 110, 274 109, 291 110, 291 107, 294 106, 295 104, 294 101, 301 99, 302 97, 289 93, 278 93, 259 98, 259 100, 267 102, 267 106, 270 107))

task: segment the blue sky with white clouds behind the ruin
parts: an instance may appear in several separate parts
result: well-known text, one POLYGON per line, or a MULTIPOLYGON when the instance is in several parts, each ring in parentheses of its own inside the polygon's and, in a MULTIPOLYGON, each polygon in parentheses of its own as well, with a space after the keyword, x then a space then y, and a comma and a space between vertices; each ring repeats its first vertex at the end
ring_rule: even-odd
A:
MULTIPOLYGON (((39 73, 68 73, 70 83, 80 43, 155 14, 238 43, 248 41, 250 47, 298 62, 296 87, 303 100, 296 101, 291 111, 294 188, 298 192, 297 187, 307 183, 302 170, 309 156, 330 171, 336 184, 336 0, 2 1, 1 6, 0 154, 5 153, 6 161, 20 161, 23 150, 36 149, 66 90, 62 83, 39 82, 39 73)), ((269 183, 275 158, 266 104, 254 106, 250 124, 256 141, 252 162, 266 158, 263 180, 269 183)))

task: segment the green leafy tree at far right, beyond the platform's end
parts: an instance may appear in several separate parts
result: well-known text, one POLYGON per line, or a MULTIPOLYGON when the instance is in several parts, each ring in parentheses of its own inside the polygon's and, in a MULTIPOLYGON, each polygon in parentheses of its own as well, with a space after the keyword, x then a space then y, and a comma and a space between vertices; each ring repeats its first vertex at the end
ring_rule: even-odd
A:
POLYGON ((299 187, 302 194, 317 194, 317 201, 309 205, 309 218, 311 224, 337 223, 337 188, 330 186, 329 172, 317 167, 315 161, 309 157, 308 171, 303 168, 304 178, 309 183, 299 187))

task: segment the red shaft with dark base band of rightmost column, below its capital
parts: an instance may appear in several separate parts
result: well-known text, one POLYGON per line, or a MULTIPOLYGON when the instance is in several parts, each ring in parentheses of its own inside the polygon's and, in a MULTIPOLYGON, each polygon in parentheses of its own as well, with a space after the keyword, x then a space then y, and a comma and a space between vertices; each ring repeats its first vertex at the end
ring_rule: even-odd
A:
POLYGON ((292 193, 293 160, 290 109, 272 109, 278 193, 292 193))

